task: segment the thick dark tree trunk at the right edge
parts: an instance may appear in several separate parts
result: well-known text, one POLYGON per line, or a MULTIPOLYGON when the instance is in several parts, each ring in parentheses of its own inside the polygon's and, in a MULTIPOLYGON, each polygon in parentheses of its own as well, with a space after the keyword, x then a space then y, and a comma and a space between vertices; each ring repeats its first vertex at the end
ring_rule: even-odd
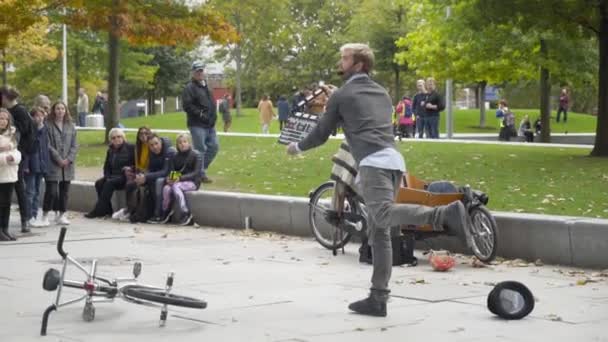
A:
POLYGON ((595 157, 608 157, 608 0, 600 2, 599 12, 600 83, 598 87, 595 144, 591 155, 595 157))

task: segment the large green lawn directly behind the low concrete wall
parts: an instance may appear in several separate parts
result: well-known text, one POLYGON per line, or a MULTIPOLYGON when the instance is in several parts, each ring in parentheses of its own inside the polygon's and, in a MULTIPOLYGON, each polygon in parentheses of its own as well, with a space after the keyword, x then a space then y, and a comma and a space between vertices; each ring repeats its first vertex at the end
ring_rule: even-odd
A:
MULTIPOLYGON (((101 132, 79 132, 78 166, 101 168, 101 138, 101 132)), ((223 136, 209 169, 214 183, 205 189, 306 196, 328 179, 338 145, 330 140, 290 157, 273 138, 223 136)), ((490 195, 492 210, 608 218, 608 159, 590 158, 589 150, 424 141, 398 147, 409 172, 427 181, 470 184, 490 195)))

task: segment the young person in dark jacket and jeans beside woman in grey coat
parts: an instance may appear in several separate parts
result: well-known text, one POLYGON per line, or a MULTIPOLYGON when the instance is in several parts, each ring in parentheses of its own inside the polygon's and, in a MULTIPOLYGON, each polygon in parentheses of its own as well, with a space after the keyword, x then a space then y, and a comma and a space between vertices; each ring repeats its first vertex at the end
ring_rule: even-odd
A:
POLYGON ((42 179, 48 174, 50 168, 49 157, 49 131, 44 121, 46 112, 41 107, 34 107, 30 112, 34 120, 34 146, 29 154, 23 156, 23 173, 25 175, 25 192, 30 208, 28 225, 30 227, 41 227, 38 221, 38 203, 40 203, 40 186, 42 179))

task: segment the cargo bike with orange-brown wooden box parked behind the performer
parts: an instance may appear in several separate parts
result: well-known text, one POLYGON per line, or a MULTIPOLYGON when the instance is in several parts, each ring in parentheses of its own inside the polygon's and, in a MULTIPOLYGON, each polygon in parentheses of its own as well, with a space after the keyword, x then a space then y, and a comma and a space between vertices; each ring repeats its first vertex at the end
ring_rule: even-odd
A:
MULTIPOLYGON (((337 250, 343 248, 353 235, 366 239, 367 210, 363 199, 355 190, 357 170, 348 145, 343 143, 332 161, 332 180, 310 193, 309 222, 319 244, 336 255, 337 250)), ((449 182, 426 183, 406 173, 396 199, 398 203, 431 207, 453 201, 462 201, 470 218, 470 230, 461 240, 466 241, 466 247, 480 261, 492 261, 498 250, 498 226, 485 207, 488 203, 486 194, 471 190, 468 186, 457 188, 449 182)), ((453 235, 452 232, 431 225, 404 224, 400 228, 403 235, 412 241, 453 235)))

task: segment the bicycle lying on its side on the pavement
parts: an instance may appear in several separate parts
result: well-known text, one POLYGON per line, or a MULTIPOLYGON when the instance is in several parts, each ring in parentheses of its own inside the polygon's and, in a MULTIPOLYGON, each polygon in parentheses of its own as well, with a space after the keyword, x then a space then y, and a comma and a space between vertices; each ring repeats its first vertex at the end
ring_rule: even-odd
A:
POLYGON ((51 312, 56 311, 58 308, 85 301, 84 309, 82 311, 83 320, 90 322, 95 319, 95 306, 93 303, 98 302, 113 302, 114 298, 119 297, 127 302, 159 307, 160 312, 160 326, 164 326, 167 320, 168 305, 181 306, 192 309, 204 309, 207 307, 207 303, 200 299, 180 296, 171 293, 173 287, 174 274, 171 272, 167 276, 167 282, 164 288, 149 286, 144 284, 138 284, 137 278, 141 273, 141 263, 136 262, 133 265, 133 278, 115 278, 106 279, 97 275, 97 260, 91 262, 91 269, 87 270, 85 267, 76 261, 74 258, 69 256, 63 250, 63 241, 65 239, 67 229, 61 228, 59 233, 59 240, 57 241, 57 252, 63 259, 63 267, 61 272, 54 268, 50 268, 44 274, 42 281, 42 287, 47 291, 57 290, 57 296, 55 303, 50 305, 42 316, 42 327, 40 329, 40 335, 46 335, 46 328, 48 324, 48 318, 51 312), (65 279, 65 271, 68 263, 73 264, 80 269, 86 275, 85 281, 76 281, 65 279), (78 298, 68 300, 60 303, 61 292, 64 287, 71 287, 76 289, 82 289, 86 293, 78 298))

